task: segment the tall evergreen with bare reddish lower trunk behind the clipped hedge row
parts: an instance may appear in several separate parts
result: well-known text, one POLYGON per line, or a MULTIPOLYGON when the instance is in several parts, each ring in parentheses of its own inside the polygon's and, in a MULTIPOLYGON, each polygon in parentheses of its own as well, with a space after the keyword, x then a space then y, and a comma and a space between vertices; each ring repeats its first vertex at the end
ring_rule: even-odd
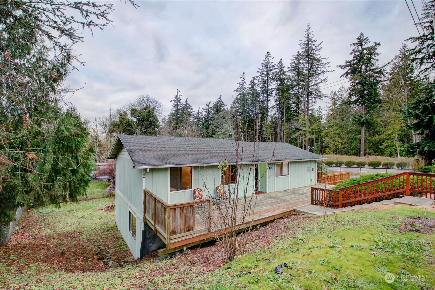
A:
POLYGON ((384 75, 383 67, 378 66, 378 48, 379 42, 369 45, 368 37, 361 34, 352 43, 352 59, 345 61, 345 64, 337 67, 345 70, 341 77, 349 80, 349 100, 351 104, 361 106, 361 117, 358 118, 358 124, 361 125, 361 150, 360 156, 365 156, 365 128, 370 124, 370 114, 366 111, 374 110, 380 103, 379 84, 384 75))

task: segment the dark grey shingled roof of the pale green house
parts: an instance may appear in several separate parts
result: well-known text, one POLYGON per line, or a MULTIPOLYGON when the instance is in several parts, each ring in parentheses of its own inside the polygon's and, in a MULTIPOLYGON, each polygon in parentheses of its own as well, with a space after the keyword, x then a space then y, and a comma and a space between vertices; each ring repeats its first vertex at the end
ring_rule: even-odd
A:
MULTIPOLYGON (((174 165, 217 165, 227 158, 236 163, 238 142, 233 139, 119 135, 109 158, 116 158, 121 146, 127 149, 136 167, 174 165)), ((239 162, 313 160, 323 157, 288 143, 240 142, 239 162)))

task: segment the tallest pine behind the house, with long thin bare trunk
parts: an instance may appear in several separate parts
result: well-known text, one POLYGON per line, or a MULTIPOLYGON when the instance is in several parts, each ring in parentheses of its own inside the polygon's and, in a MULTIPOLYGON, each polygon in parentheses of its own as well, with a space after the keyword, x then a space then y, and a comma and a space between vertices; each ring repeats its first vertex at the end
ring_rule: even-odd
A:
POLYGON ((325 62, 328 58, 321 57, 322 42, 316 44, 317 40, 311 31, 311 27, 308 24, 305 30, 305 37, 300 40, 299 47, 301 72, 303 76, 303 85, 305 90, 305 150, 309 147, 309 125, 310 125, 310 109, 314 107, 317 99, 323 97, 320 91, 320 84, 328 81, 328 77, 325 76, 328 72, 329 62, 325 62))

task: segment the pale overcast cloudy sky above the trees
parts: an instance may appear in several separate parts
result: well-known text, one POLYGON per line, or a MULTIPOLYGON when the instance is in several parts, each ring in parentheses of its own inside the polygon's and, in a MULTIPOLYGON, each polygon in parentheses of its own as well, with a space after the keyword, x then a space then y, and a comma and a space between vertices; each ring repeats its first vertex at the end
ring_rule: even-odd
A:
MULTIPOLYGON (((114 1, 113 25, 74 47, 86 66, 67 84, 84 85, 70 101, 86 118, 103 116, 110 105, 117 108, 141 93, 161 100, 167 114, 177 89, 194 109, 219 95, 229 105, 239 76, 255 75, 266 51, 288 65, 307 24, 335 70, 331 86, 341 83, 336 65, 349 58, 349 44, 361 31, 381 42, 381 63, 417 34, 405 1, 136 2, 140 7, 134 9, 114 1)), ((414 3, 419 11, 421 2, 414 3)), ((324 88, 329 93, 338 85, 324 88)))

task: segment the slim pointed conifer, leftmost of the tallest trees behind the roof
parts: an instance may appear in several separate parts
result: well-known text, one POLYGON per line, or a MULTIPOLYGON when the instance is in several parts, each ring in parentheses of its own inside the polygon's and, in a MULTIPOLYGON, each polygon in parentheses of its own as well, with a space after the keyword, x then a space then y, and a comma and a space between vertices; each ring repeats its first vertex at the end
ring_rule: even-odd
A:
POLYGON ((274 92, 274 77, 276 73, 276 64, 272 62, 273 57, 268 51, 264 56, 264 60, 261 63, 261 67, 258 69, 257 77, 258 81, 258 91, 260 93, 261 101, 264 102, 264 114, 266 115, 266 120, 269 114, 269 103, 273 97, 274 92))

